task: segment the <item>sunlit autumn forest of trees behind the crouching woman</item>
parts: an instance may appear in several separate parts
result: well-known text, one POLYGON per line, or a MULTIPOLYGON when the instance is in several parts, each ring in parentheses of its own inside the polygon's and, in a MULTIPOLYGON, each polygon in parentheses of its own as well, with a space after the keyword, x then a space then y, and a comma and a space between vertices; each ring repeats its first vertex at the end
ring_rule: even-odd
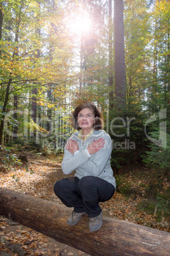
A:
POLYGON ((1 0, 3 162, 63 152, 70 111, 92 101, 113 169, 145 164, 169 191, 169 17, 167 0, 1 0))

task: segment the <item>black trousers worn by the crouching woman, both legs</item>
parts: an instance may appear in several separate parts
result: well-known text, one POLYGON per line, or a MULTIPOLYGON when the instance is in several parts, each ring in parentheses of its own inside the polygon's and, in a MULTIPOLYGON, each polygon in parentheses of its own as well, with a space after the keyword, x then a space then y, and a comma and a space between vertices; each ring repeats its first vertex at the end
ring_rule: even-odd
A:
POLYGON ((90 218, 100 215, 99 202, 109 200, 115 192, 112 184, 95 176, 64 178, 55 183, 54 191, 67 207, 74 211, 86 211, 90 218))

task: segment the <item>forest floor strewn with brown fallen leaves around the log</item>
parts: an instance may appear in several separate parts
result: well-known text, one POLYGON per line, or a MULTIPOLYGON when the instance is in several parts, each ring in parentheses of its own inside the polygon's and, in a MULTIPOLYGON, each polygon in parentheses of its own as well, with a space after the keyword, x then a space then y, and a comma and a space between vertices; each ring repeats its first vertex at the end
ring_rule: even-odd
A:
MULTIPOLYGON (((61 169, 62 157, 59 156, 54 160, 27 153, 27 158, 29 159, 28 164, 16 167, 16 171, 11 169, 7 173, 1 173, 1 187, 61 204, 60 199, 53 192, 53 186, 56 180, 65 177, 61 169), (18 181, 15 181, 16 178, 18 181)), ((136 196, 126 197, 116 191, 112 199, 100 204, 103 215, 169 231, 168 218, 162 217, 161 221, 157 222, 156 209, 154 214, 147 214, 137 208, 145 192, 142 184, 148 182, 148 174, 139 176, 140 173, 149 173, 147 169, 143 168, 143 166, 131 166, 130 173, 122 170, 122 180, 131 183, 133 190, 138 190, 138 193, 136 196)), ((120 178, 120 173, 118 178, 120 178)), ((167 181, 165 183, 166 186, 169 186, 167 181)), ((122 182, 121 186, 123 184, 122 182)), ((85 256, 88 254, 0 216, 0 255, 85 256)))

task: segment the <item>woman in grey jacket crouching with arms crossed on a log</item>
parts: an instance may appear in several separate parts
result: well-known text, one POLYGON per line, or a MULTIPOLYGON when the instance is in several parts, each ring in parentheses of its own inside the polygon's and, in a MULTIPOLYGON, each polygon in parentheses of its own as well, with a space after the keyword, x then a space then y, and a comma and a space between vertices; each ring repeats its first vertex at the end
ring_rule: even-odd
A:
POLYGON ((67 224, 75 225, 82 215, 89 216, 89 231, 102 225, 99 202, 109 200, 115 192, 115 178, 110 167, 112 141, 102 129, 100 111, 93 103, 82 103, 72 113, 74 132, 65 145, 62 170, 74 177, 55 183, 56 196, 67 207, 74 207, 67 224))

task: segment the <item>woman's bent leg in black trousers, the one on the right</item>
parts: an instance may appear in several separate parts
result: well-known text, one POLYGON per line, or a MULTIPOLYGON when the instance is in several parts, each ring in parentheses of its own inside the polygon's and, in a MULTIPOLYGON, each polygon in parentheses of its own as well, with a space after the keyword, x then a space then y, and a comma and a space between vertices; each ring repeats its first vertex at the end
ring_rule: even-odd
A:
POLYGON ((115 192, 112 184, 95 176, 81 178, 78 183, 82 201, 86 206, 86 213, 90 218, 100 215, 99 202, 108 201, 115 192))

